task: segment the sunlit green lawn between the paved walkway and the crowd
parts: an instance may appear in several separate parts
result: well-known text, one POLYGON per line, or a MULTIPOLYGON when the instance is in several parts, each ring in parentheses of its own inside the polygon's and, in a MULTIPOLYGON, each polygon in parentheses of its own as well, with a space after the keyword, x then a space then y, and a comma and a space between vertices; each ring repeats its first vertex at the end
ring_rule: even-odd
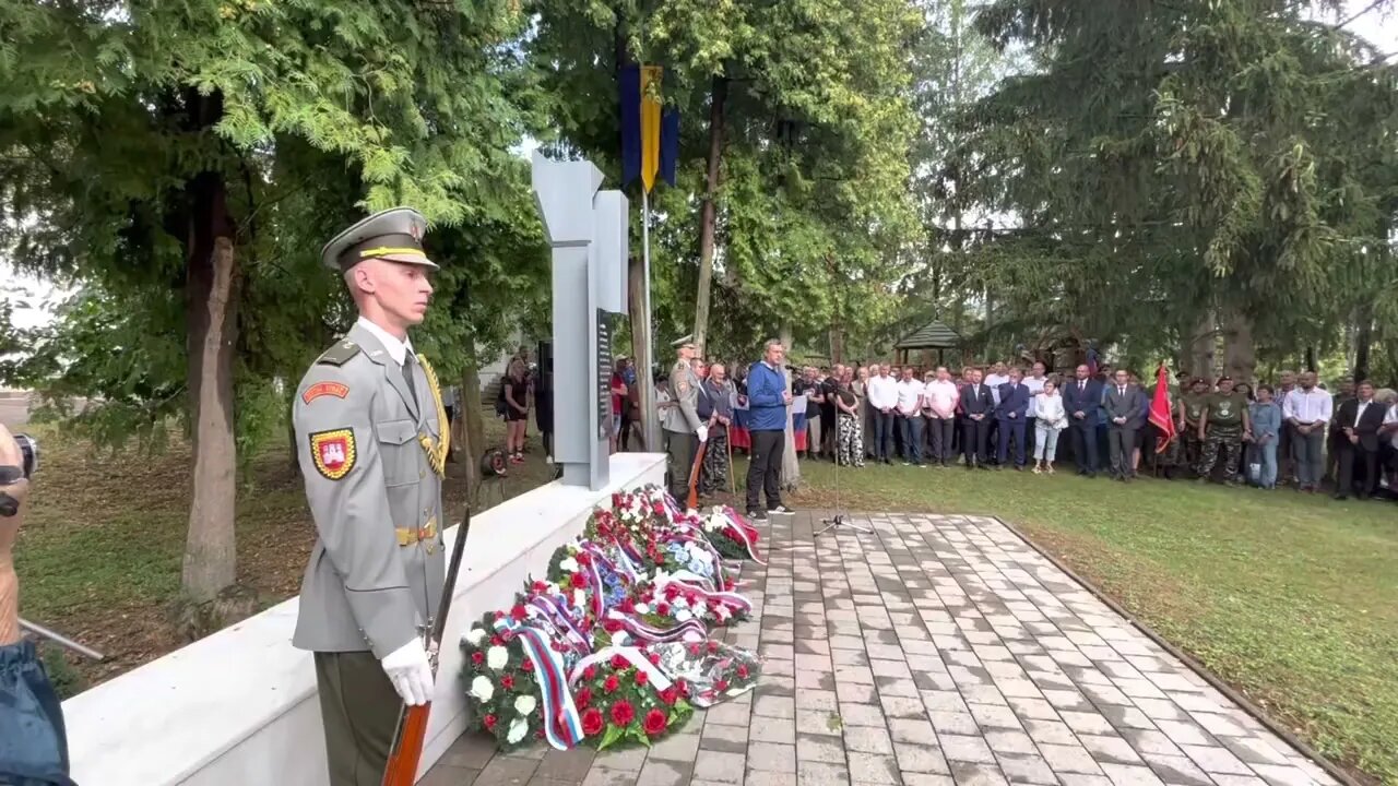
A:
MULTIPOLYGON (((802 462, 801 508, 835 469, 802 462)), ((994 515, 1356 776, 1398 783, 1398 505, 1060 471, 842 470, 850 510, 994 515)))

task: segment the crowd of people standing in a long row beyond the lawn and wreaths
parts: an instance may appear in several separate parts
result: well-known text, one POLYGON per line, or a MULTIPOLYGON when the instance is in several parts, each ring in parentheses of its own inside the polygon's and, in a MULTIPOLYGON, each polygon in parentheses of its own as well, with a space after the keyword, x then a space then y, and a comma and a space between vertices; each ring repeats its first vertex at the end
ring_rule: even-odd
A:
MULTIPOLYGON (((780 471, 776 435, 793 401, 805 407, 802 459, 847 467, 898 462, 1054 474, 1067 460, 1079 476, 1121 483, 1148 474, 1307 494, 1325 488, 1341 499, 1398 495, 1398 393, 1367 380, 1332 393, 1313 371, 1285 371, 1275 383, 1180 372, 1167 385, 1169 408, 1152 415, 1155 380, 1110 365, 1064 372, 1048 372, 1043 362, 797 368, 784 364, 776 341, 763 361, 731 373, 693 357, 691 344, 679 347, 678 359, 693 373, 695 390, 685 396, 695 396, 698 421, 685 422, 675 376, 661 375, 667 436, 703 427, 705 494, 730 483, 730 441, 741 445, 735 449, 752 457, 749 513, 759 517, 758 492, 769 487, 766 509, 784 509, 773 474, 780 471), (794 378, 790 394, 783 369, 794 378), (741 439, 735 428, 745 432, 741 439), (1174 436, 1162 439, 1167 431, 1174 436)), ((635 420, 622 413, 622 424, 635 420)))

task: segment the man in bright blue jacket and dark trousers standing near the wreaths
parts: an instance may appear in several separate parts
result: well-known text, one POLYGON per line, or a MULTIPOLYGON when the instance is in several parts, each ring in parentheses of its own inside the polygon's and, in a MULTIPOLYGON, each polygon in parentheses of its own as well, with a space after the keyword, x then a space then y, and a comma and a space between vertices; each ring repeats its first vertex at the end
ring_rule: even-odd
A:
POLYGON ((752 460, 748 463, 748 517, 766 519, 766 510, 786 513, 781 503, 781 455, 786 452, 787 407, 791 392, 781 376, 786 347, 776 338, 768 341, 762 361, 748 369, 748 435, 752 460), (766 491, 766 510, 758 505, 758 492, 766 491))

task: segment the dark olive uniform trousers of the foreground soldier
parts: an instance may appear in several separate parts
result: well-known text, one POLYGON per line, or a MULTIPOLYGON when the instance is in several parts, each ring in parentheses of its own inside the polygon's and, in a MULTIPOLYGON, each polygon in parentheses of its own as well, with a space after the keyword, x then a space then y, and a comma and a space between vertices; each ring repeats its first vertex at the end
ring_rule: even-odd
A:
POLYGON ((380 786, 403 699, 372 652, 317 652, 330 786, 380 786))

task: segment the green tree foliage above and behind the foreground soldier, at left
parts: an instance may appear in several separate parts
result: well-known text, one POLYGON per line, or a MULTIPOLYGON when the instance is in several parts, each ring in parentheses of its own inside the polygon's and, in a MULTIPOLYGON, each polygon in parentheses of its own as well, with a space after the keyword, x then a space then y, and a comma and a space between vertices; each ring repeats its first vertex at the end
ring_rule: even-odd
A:
POLYGON ((319 252, 366 211, 408 204, 432 224, 445 271, 418 344, 442 371, 499 350, 547 285, 512 152, 524 25, 509 0, 0 6, 0 242, 81 283, 6 382, 101 399, 84 421, 113 445, 187 417, 200 178, 222 185, 236 246, 240 455, 284 434, 278 396, 352 322, 319 252))

